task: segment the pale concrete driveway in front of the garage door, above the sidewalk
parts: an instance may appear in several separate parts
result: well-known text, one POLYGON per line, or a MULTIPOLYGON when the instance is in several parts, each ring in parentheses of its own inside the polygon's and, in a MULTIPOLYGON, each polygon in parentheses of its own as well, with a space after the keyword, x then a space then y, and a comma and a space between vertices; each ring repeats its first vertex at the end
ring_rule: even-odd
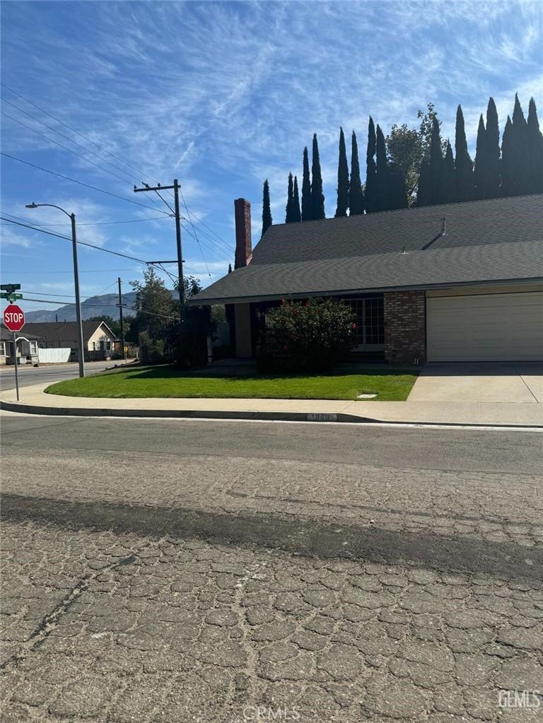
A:
POLYGON ((429 363, 410 402, 543 403, 543 362, 429 363))

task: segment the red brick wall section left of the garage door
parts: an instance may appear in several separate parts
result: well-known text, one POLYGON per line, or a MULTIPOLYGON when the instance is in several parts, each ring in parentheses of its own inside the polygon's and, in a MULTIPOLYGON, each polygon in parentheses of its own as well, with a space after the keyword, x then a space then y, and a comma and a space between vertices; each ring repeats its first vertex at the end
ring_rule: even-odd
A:
POLYGON ((424 291, 385 292, 385 359, 413 364, 426 357, 426 295, 424 291))

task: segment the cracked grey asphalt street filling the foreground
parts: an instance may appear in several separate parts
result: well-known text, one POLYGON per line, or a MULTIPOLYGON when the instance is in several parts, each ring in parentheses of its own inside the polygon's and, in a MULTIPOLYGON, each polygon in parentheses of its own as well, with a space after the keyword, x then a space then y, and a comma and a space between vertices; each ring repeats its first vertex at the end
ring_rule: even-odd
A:
POLYGON ((3 721, 543 720, 541 434, 1 421, 3 721))

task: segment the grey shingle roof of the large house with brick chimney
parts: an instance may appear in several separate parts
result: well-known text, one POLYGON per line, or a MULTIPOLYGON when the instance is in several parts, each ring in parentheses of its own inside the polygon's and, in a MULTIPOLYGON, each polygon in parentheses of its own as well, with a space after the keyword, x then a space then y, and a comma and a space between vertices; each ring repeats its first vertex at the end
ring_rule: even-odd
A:
POLYGON ((529 280, 543 280, 543 194, 270 226, 191 303, 529 280))

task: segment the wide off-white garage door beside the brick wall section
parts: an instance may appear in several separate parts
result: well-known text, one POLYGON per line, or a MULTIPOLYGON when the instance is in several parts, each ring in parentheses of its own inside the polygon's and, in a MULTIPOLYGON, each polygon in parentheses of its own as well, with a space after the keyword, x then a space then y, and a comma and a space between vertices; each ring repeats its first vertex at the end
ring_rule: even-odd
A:
POLYGON ((427 299, 428 361, 543 359, 543 292, 427 299))

